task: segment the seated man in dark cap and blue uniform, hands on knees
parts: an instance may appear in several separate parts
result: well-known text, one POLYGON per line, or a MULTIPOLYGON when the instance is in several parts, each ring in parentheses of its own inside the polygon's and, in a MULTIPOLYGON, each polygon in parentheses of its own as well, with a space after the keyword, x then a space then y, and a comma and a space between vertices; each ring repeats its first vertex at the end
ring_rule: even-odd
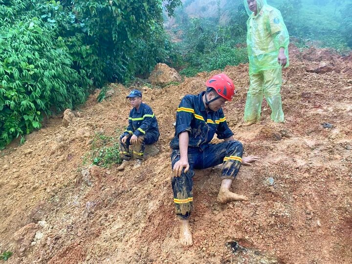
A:
POLYGON ((145 145, 155 143, 160 135, 152 109, 142 103, 142 92, 134 89, 126 98, 130 99, 133 108, 130 111, 129 125, 120 136, 120 158, 123 161, 117 168, 119 171, 125 169, 132 157, 136 159, 134 168, 139 167, 142 163, 145 145), (131 145, 132 148, 130 148, 131 145))

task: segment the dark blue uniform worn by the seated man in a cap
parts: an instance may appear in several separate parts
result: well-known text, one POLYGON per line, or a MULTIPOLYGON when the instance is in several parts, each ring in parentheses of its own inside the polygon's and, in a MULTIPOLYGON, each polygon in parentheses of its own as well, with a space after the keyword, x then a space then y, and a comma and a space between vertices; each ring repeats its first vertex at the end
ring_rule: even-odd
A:
POLYGON ((158 124, 152 109, 148 105, 141 103, 138 110, 133 108, 130 111, 129 125, 120 136, 120 155, 126 160, 132 156, 142 159, 145 145, 155 143, 159 139, 159 135, 158 124), (130 150, 130 139, 133 134, 141 140, 141 144, 135 144, 133 150, 130 150), (124 144, 121 139, 126 135, 129 138, 124 144))

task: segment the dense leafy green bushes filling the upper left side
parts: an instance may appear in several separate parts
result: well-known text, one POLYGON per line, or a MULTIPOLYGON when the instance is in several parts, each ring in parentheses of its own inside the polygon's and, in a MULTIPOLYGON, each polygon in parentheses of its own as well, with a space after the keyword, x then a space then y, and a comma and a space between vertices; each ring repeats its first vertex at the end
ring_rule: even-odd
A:
POLYGON ((0 148, 85 102, 91 84, 149 72, 169 49, 160 0, 0 0, 0 148))

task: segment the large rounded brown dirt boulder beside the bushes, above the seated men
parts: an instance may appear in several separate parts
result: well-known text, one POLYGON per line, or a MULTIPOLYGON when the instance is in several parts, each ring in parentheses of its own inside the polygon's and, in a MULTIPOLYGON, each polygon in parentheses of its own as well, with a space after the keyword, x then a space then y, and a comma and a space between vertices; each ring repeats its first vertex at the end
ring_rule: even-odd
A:
POLYGON ((153 85, 164 87, 173 82, 180 83, 181 77, 174 68, 170 68, 164 63, 158 63, 148 80, 153 85))

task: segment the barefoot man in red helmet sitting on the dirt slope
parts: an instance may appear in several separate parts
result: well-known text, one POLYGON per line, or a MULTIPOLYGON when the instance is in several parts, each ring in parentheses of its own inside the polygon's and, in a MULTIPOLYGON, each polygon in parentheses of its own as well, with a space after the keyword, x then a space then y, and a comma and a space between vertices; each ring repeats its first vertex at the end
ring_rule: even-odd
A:
POLYGON ((250 165, 258 160, 256 156, 242 159, 242 144, 234 140, 233 132, 227 126, 222 107, 234 95, 231 79, 221 73, 211 77, 206 86, 206 91, 182 98, 176 112, 175 137, 170 142, 174 171, 171 184, 176 215, 180 219, 180 242, 183 245, 193 243, 188 220, 193 206, 193 170, 222 163, 218 201, 241 201, 247 198, 230 192, 232 180, 237 176, 241 164, 250 165), (225 142, 210 144, 215 133, 225 142))

